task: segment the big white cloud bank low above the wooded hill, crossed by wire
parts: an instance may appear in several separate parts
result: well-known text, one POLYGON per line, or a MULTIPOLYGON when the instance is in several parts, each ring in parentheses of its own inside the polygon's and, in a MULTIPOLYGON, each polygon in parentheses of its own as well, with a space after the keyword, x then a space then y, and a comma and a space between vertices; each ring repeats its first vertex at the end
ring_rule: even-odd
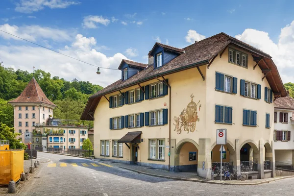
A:
MULTIPOLYGON (((106 56, 94 49, 95 47, 95 38, 87 38, 78 34, 71 45, 57 49, 57 51, 99 67, 113 69, 117 69, 122 59, 126 59, 122 53, 106 56)), ((75 77, 78 80, 90 81, 103 87, 121 77, 120 71, 102 68, 100 68, 101 74, 97 75, 96 67, 40 47, 0 45, 0 56, 5 67, 31 72, 31 67, 34 65, 36 69, 51 73, 51 76, 58 75, 67 80, 72 80, 75 77)))

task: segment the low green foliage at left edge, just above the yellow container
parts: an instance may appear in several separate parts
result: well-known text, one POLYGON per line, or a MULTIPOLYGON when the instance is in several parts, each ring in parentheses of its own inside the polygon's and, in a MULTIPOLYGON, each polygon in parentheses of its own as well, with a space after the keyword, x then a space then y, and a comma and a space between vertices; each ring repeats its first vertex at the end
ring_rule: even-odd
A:
POLYGON ((25 144, 20 143, 21 140, 17 140, 16 136, 19 133, 14 133, 14 128, 10 128, 6 124, 0 123, 0 140, 8 140, 10 148, 23 148, 26 149, 25 144))

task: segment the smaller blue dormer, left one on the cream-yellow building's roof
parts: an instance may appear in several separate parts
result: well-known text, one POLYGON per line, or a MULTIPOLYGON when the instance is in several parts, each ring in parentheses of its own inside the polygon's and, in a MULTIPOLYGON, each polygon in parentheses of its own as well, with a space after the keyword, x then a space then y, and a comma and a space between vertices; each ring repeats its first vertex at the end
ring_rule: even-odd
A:
POLYGON ((122 70, 122 80, 126 80, 136 73, 141 72, 146 67, 147 64, 123 59, 118 69, 122 70))

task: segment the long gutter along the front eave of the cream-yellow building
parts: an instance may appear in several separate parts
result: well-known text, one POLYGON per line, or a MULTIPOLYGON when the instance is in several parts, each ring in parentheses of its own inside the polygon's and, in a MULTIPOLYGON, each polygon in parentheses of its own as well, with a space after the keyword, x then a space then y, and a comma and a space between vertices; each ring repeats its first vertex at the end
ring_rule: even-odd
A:
MULTIPOLYGON (((192 63, 192 64, 186 65, 186 66, 184 66, 184 67, 180 67, 180 68, 177 68, 177 69, 174 69, 174 70, 171 70, 171 71, 166 71, 166 72, 163 72, 163 73, 160 73, 160 74, 157 74, 157 75, 152 75, 152 76, 149 76, 149 77, 144 78, 144 79, 142 79, 142 80, 139 80, 139 81, 136 81, 136 82, 132 82, 132 83, 126 85, 126 86, 123 86, 123 88, 128 88, 128 87, 130 87, 130 86, 134 86, 134 85, 136 85, 136 84, 138 84, 138 83, 146 82, 146 81, 148 81, 148 80, 150 80, 150 79, 154 79, 154 78, 156 78, 156 77, 165 76, 165 75, 167 75, 167 74, 175 73, 175 72, 178 72, 178 71, 184 71, 184 70, 191 69, 191 68, 194 68, 194 67, 198 67, 198 66, 206 65, 206 64, 208 64, 208 63, 209 63, 209 60, 204 60, 204 61, 200 61, 200 62, 197 62, 197 63, 192 63)), ((122 88, 116 88, 116 89, 114 89, 114 90, 112 90, 112 91, 105 92, 105 93, 103 93, 103 94, 101 94, 101 95, 96 95, 96 96, 93 95, 93 96, 91 96, 89 99, 93 99, 93 98, 101 97, 101 96, 103 96, 103 95, 107 95, 107 94, 109 94, 109 93, 113 93, 113 92, 116 92, 116 91, 121 90, 121 89, 122 89, 122 88)))

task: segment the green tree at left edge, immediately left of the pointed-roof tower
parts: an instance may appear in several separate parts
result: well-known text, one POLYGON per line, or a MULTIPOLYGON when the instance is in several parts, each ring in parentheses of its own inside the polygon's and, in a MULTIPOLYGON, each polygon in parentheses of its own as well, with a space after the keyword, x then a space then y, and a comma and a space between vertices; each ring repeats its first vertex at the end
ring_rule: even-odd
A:
POLYGON ((13 107, 6 100, 0 98, 0 123, 13 127, 13 107))

